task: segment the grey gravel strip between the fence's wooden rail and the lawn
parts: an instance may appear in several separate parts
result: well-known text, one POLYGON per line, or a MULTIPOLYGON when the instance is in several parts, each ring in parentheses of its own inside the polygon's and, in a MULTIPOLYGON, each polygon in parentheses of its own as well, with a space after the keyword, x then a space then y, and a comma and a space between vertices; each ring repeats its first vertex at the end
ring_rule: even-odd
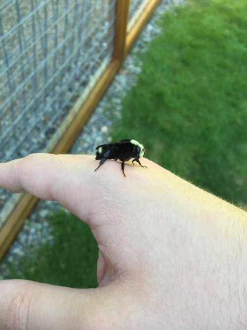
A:
MULTIPOLYGON (((144 52, 151 40, 160 33, 158 18, 174 5, 181 5, 184 0, 163 0, 156 9, 149 23, 144 28, 131 52, 127 55, 120 72, 115 76, 106 94, 96 106, 90 119, 83 127, 80 136, 70 150, 71 154, 95 154, 95 146, 111 141, 111 130, 115 120, 121 118, 122 99, 137 82, 142 69, 138 57, 144 52)), ((24 222, 20 234, 0 264, 0 280, 8 275, 6 261, 12 267, 18 266, 18 256, 25 255, 27 249, 33 251, 46 242, 52 244, 53 236, 49 217, 62 207, 54 201, 41 200, 32 214, 24 222)))

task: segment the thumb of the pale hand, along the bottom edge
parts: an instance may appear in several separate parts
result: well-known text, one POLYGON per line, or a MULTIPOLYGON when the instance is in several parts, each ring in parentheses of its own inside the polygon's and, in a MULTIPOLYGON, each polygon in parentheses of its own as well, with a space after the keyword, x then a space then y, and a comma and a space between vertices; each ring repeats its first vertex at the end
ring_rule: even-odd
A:
POLYGON ((96 289, 73 289, 23 280, 0 281, 0 330, 94 330, 116 329, 116 325, 132 329, 127 318, 142 310, 135 303, 140 299, 138 294, 142 291, 135 284, 128 287, 117 282, 96 289))

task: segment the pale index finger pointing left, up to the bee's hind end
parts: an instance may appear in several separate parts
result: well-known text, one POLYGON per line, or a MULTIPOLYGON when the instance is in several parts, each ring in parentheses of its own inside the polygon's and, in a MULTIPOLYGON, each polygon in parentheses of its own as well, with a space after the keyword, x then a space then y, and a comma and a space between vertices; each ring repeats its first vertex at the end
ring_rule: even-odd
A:
MULTIPOLYGON (((89 155, 32 154, 1 163, 0 187, 12 192, 26 191, 39 198, 57 200, 75 212, 79 203, 81 206, 90 205, 93 158, 89 155)), ((81 207, 82 209, 85 208, 81 207)))

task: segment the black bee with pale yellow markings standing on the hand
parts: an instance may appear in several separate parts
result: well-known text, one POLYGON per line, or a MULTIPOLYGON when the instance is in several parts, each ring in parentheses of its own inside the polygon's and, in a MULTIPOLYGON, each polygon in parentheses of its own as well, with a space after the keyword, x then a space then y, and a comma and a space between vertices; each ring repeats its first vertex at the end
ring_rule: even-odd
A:
MULTIPOLYGON (((132 160, 132 164, 134 165, 134 162, 137 162, 141 167, 147 167, 142 166, 140 163, 139 158, 144 155, 144 153, 148 156, 146 153, 144 146, 135 140, 121 140, 120 142, 116 143, 108 143, 108 144, 102 144, 96 147, 96 157, 95 159, 100 159, 99 166, 94 170, 94 172, 97 171, 97 169, 104 164, 104 162, 107 159, 114 159, 114 160, 120 160, 122 162, 121 168, 124 174, 124 162, 134 158, 132 160)), ((149 156, 148 159, 150 160, 149 156)), ((125 174, 124 174, 124 177, 125 174)))

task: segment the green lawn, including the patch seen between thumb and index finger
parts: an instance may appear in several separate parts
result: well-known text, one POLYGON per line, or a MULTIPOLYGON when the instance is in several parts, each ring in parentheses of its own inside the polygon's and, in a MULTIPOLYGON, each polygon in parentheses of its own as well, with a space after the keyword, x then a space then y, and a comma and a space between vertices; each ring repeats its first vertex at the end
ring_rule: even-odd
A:
MULTIPOLYGON (((167 12, 124 98, 113 141, 141 141, 150 158, 236 203, 247 204, 246 0, 198 0, 167 12)), ((10 277, 95 287, 97 245, 65 212, 54 244, 27 251, 10 277)), ((12 269, 11 269, 12 268, 12 269)))

